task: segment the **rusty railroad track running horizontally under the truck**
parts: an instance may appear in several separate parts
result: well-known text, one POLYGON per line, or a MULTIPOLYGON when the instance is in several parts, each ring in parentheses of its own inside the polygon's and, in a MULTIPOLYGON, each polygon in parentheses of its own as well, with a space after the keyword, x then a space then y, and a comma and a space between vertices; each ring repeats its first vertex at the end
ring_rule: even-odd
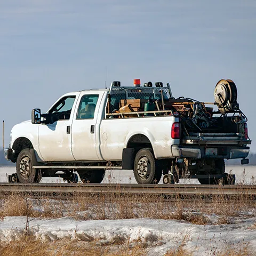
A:
POLYGON ((28 194, 33 197, 65 198, 77 194, 158 195, 165 198, 246 197, 256 201, 256 185, 141 185, 141 184, 86 184, 86 183, 0 183, 0 196, 28 194))

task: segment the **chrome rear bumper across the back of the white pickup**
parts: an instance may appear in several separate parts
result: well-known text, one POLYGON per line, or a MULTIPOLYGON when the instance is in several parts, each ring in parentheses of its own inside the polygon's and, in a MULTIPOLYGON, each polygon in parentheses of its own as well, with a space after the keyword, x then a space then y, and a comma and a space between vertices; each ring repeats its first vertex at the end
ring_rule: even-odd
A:
POLYGON ((173 145, 171 147, 173 157, 186 158, 246 158, 249 155, 250 147, 219 147, 219 146, 179 146, 173 145), (206 148, 216 149, 217 154, 206 155, 206 148))

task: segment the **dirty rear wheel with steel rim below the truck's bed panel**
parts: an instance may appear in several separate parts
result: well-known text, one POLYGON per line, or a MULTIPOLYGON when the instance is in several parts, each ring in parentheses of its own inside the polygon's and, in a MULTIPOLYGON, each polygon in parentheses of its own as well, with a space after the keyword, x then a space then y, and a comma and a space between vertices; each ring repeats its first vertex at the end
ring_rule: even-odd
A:
POLYGON ((155 159, 151 148, 142 148, 134 160, 133 169, 135 180, 139 184, 158 183, 162 176, 162 168, 155 159))

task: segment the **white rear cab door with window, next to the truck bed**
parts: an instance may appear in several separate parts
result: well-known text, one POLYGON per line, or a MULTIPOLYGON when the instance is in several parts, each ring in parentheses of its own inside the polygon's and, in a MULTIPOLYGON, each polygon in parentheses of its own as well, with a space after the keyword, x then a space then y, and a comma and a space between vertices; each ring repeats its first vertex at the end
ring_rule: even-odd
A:
POLYGON ((100 103, 104 91, 82 92, 78 99, 71 127, 72 153, 76 161, 101 160, 99 126, 100 103))

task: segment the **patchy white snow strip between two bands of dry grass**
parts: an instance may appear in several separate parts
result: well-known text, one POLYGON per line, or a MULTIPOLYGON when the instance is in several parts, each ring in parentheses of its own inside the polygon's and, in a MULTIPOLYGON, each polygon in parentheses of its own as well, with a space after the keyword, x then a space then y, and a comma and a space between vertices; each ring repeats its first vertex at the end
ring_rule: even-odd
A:
MULTIPOLYGON (((216 248, 239 242, 250 243, 256 251, 256 218, 233 225, 193 225, 177 220, 126 219, 79 221, 72 218, 32 219, 29 230, 44 241, 61 238, 114 243, 141 241, 152 247, 149 255, 163 255, 185 240, 195 255, 211 255, 216 248)), ((20 238, 25 233, 26 217, 5 217, 0 222, 0 241, 20 238)))

